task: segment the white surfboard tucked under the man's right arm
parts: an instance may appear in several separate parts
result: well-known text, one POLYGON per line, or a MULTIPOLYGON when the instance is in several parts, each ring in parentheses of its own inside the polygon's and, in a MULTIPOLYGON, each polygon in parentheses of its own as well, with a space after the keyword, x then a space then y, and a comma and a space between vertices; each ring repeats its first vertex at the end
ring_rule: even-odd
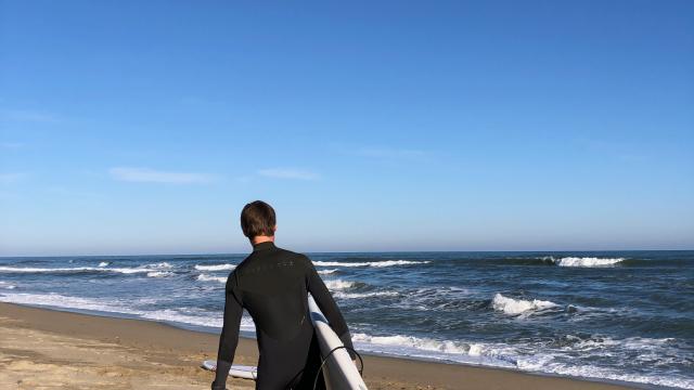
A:
MULTIPOLYGON (((325 358, 333 349, 344 347, 342 340, 330 327, 327 320, 318 308, 318 304, 316 304, 313 297, 308 298, 308 308, 321 355, 325 358)), ((335 350, 327 356, 327 361, 323 366, 323 377, 329 390, 367 390, 364 380, 359 375, 359 370, 351 358, 349 358, 349 352, 344 348, 335 350)))

